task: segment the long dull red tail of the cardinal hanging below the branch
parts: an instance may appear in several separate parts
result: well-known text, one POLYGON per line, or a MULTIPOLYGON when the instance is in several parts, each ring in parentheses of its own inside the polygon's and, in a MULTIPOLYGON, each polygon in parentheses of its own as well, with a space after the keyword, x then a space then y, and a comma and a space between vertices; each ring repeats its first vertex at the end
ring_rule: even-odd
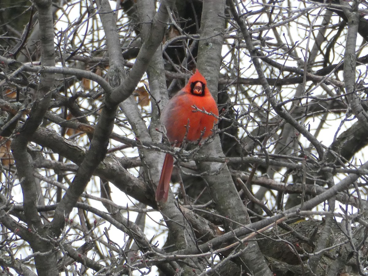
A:
POLYGON ((166 202, 169 195, 171 173, 173 172, 174 158, 169 153, 166 153, 163 162, 159 185, 156 191, 156 201, 166 202))

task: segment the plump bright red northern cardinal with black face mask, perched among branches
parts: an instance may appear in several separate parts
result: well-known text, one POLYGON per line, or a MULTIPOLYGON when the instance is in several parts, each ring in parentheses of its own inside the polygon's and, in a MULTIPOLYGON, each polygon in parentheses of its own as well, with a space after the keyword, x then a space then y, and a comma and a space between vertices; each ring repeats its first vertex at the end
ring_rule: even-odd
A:
MULTIPOLYGON (((187 85, 169 100, 161 114, 167 138, 174 146, 180 146, 184 138, 187 141, 198 141, 210 136, 213 125, 217 123, 215 116, 195 111, 192 106, 219 116, 216 102, 207 88, 206 79, 198 70, 190 77, 187 85)), ((156 192, 157 202, 167 201, 173 165, 173 156, 166 153, 156 192)))

